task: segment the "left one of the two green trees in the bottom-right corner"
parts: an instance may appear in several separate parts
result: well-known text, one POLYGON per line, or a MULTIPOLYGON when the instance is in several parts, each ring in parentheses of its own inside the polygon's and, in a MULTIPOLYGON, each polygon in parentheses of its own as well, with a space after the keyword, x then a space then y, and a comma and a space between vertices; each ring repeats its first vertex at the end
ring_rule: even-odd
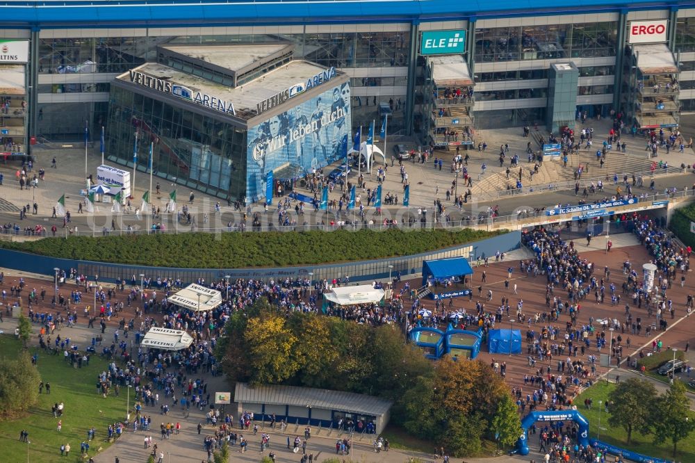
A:
POLYGON ((608 424, 623 428, 628 434, 628 444, 634 430, 649 434, 652 410, 648 404, 653 404, 656 397, 656 388, 648 380, 631 377, 620 382, 608 394, 608 400, 612 403, 608 424))

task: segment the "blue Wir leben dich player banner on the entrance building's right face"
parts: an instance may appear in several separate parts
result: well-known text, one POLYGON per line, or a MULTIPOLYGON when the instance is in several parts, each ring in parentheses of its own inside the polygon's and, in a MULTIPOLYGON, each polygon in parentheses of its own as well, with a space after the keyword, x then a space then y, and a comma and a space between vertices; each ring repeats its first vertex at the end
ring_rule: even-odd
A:
MULTIPOLYGON (((291 100, 290 100, 291 101, 291 100)), ((266 174, 275 170, 301 177, 347 156, 352 118, 350 84, 345 82, 270 117, 247 134, 247 202, 261 200, 266 174)))

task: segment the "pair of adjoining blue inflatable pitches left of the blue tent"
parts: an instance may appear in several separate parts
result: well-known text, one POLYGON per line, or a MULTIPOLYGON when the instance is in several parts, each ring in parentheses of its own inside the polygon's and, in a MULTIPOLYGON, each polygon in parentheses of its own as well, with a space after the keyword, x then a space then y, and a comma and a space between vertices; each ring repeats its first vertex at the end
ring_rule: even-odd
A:
POLYGON ((416 346, 425 350, 428 359, 441 359, 444 355, 450 355, 454 359, 459 357, 475 359, 480 353, 482 334, 479 331, 457 330, 448 325, 446 331, 430 327, 415 327, 409 334, 410 340, 416 346))

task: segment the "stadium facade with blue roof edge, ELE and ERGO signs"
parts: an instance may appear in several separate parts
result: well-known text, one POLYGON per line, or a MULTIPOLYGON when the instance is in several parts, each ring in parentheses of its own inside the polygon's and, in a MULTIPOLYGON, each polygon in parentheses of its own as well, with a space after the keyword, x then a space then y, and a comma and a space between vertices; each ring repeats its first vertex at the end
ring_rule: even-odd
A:
MULTIPOLYGON (((177 68, 167 52, 185 47, 289 50, 288 60, 346 76, 347 86, 338 88, 353 129, 373 120, 378 129, 388 113, 389 133, 414 134, 423 144, 466 145, 475 128, 539 122, 555 129, 572 116, 611 111, 628 124, 669 128, 682 111, 695 111, 692 1, 2 0, 0 8, 0 136, 19 152, 31 137, 80 140, 85 125, 97 143, 106 126, 107 151, 131 151, 109 127, 113 108, 130 101, 124 75, 156 63, 195 74, 195 65, 181 67, 181 60, 177 68)), ((234 73, 195 68, 210 83, 242 87, 229 81, 234 73)), ((263 79, 266 72, 283 70, 249 75, 263 79)), ((270 97, 261 99, 268 104, 270 97)), ((188 117, 167 111, 161 117, 179 120, 162 124, 211 132, 215 124, 199 118, 204 111, 220 116, 218 110, 200 106, 188 117)), ((259 114, 248 117, 260 121, 259 114)), ((243 138, 233 141, 248 152, 248 133, 230 136, 243 138)), ((204 145, 231 156, 213 134, 205 137, 191 136, 190 150, 204 145)), ((118 159, 132 167, 126 157, 118 159)), ((142 152, 138 163, 147 168, 142 152)), ((224 187, 213 190, 224 196, 224 187)))

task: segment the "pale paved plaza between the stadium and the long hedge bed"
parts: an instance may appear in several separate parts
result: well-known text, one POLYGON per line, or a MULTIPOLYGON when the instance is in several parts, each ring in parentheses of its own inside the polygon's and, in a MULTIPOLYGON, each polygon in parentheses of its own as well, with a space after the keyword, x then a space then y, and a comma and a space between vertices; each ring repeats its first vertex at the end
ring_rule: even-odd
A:
MULTIPOLYGON (((606 136, 610 128, 609 122, 606 120, 595 121, 590 120, 584 126, 578 124, 578 129, 594 128, 594 140, 596 144, 606 136)), ((538 131, 539 136, 544 136, 547 140, 548 133, 542 129, 538 131), (542 134, 542 135, 541 135, 542 134)), ((644 139, 630 135, 623 136, 623 140, 627 144, 626 154, 612 151, 607 155, 607 163, 602 169, 598 167, 598 163, 594 156, 595 151, 583 149, 579 155, 571 155, 567 167, 562 166, 561 161, 546 161, 541 165, 539 173, 534 176, 531 181, 528 179, 528 170, 533 167, 528 163, 525 156, 527 143, 531 142, 534 149, 538 149, 535 138, 524 138, 521 133, 521 128, 512 129, 497 129, 497 130, 482 130, 476 134, 476 140, 484 141, 488 148, 484 152, 479 152, 477 149, 470 151, 461 151, 461 156, 468 153, 471 159, 468 161, 468 172, 472 177, 473 187, 470 188, 473 192, 472 199, 469 200, 462 209, 455 206, 455 194, 450 195, 450 199, 446 199, 446 190, 452 186, 452 182, 457 180, 457 174, 452 172, 450 168, 451 161, 455 156, 455 151, 449 152, 434 152, 433 157, 443 159, 443 167, 441 170, 434 168, 433 160, 430 159, 425 164, 404 162, 404 167, 409 175, 409 184, 411 185, 411 197, 409 208, 402 207, 403 184, 398 168, 398 162, 391 167, 390 145, 387 148, 387 162, 389 163, 388 172, 382 186, 382 196, 398 195, 398 205, 384 204, 382 214, 375 214, 373 207, 366 208, 366 218, 364 220, 372 220, 375 223, 380 223, 384 218, 396 218, 399 221, 406 220, 408 217, 416 216, 418 209, 427 209, 430 213, 427 215, 427 220, 434 219, 439 222, 443 221, 441 214, 435 217, 434 204, 439 198, 443 206, 443 215, 448 216, 450 220, 457 221, 461 218, 475 218, 480 213, 486 213, 490 207, 498 208, 499 216, 507 216, 517 213, 521 210, 537 209, 543 206, 553 206, 554 204, 576 204, 580 197, 575 195, 573 188, 566 190, 553 190, 550 193, 533 193, 531 195, 515 195, 490 197, 489 193, 505 190, 505 184, 513 183, 512 180, 505 179, 505 169, 509 163, 505 163, 505 168, 500 168, 497 162, 500 152, 499 147, 509 144, 509 153, 507 159, 512 154, 518 154, 521 157, 521 167, 524 170, 525 186, 537 185, 547 186, 549 183, 559 184, 562 181, 573 180, 573 172, 580 165, 584 169, 582 179, 589 182, 590 179, 603 179, 606 184, 605 193, 596 193, 589 196, 589 200, 597 200, 604 195, 612 195, 615 193, 612 184, 613 174, 619 174, 622 177, 623 173, 644 172, 648 170, 651 161, 646 159, 644 151, 644 139), (482 165, 486 165, 486 171, 482 173, 482 165), (589 168, 590 167, 590 168, 589 168), (588 172, 587 172, 588 169, 588 172), (530 182, 530 183, 529 183, 530 182)), ((415 143, 406 143, 409 147, 417 148, 415 143)), ((195 202, 188 203, 188 195, 191 192, 189 188, 177 185, 174 186, 170 181, 159 179, 154 176, 152 180, 151 195, 152 204, 158 207, 161 211, 165 211, 169 193, 177 190, 177 206, 179 209, 183 204, 190 207, 190 212, 193 216, 194 226, 177 224, 173 215, 162 212, 158 218, 152 218, 147 214, 136 216, 136 208, 140 208, 142 204, 142 195, 145 190, 149 189, 149 174, 138 171, 135 177, 135 190, 133 200, 131 200, 131 209, 123 210, 121 213, 112 213, 111 204, 97 203, 94 213, 78 213, 79 203, 83 202, 83 197, 79 194, 80 190, 85 188, 83 176, 85 171, 85 159, 87 163, 88 174, 96 174, 96 169, 101 164, 101 154, 92 152, 93 149, 88 149, 88 155, 85 156, 84 149, 76 148, 61 148, 61 149, 35 149, 37 161, 33 172, 29 173, 29 177, 38 173, 39 168, 43 168, 46 172, 45 181, 39 181, 38 188, 29 188, 20 190, 19 182, 15 178, 15 173, 18 168, 13 163, 8 165, 0 165, 0 172, 3 174, 3 184, 0 186, 0 222, 2 223, 18 223, 20 228, 34 225, 42 225, 47 229, 56 225, 58 232, 67 233, 67 228, 63 229, 63 220, 61 218, 51 218, 51 214, 58 198, 65 195, 65 207, 72 214, 72 227, 77 227, 78 234, 101 234, 106 229, 110 233, 127 232, 129 227, 133 230, 146 230, 151 227, 152 223, 162 223, 169 230, 174 228, 180 232, 195 230, 206 231, 226 231, 229 225, 234 226, 243 222, 243 213, 249 209, 241 209, 235 211, 234 206, 227 204, 227 200, 218 197, 204 195, 199 191, 195 191, 195 202), (51 168, 51 161, 56 159, 57 168, 51 168), (156 195, 156 185, 160 186, 160 194, 156 195), (220 213, 215 213, 215 203, 220 202, 220 213), (31 206, 36 203, 38 213, 31 213, 31 206), (23 206, 28 206, 30 212, 24 220, 19 220, 19 210, 23 206)), ((107 153, 108 155, 108 153, 107 153)), ((660 152, 659 156, 654 161, 667 161, 670 166, 678 167, 682 163, 685 165, 695 165, 695 154, 692 149, 686 149, 685 153, 677 152, 660 152)), ((108 162, 107 162, 108 163, 108 162)), ((366 204, 366 193, 368 189, 376 188, 377 172, 379 168, 383 168, 380 163, 375 163, 371 172, 362 172, 365 179, 365 187, 358 190, 363 202, 366 204)), ((325 168, 328 172, 329 168, 325 168)), ((514 171, 514 169, 512 169, 514 171)), ((350 181, 357 181, 357 172, 350 177, 350 181)), ((454 188, 453 193, 462 195, 465 190, 463 179, 458 178, 458 184, 454 188)), ((663 192, 664 188, 677 187, 679 190, 683 188, 692 188, 695 184, 695 175, 673 173, 667 176, 658 176, 655 178, 655 192, 663 192)), ((648 179, 644 182, 644 187, 633 188, 634 194, 649 193, 648 179)), ((302 186, 297 186, 297 191, 305 195, 311 196, 309 190, 302 186)), ((654 193, 654 192, 651 192, 654 193)), ((341 195, 340 189, 336 188, 329 195, 329 200, 338 200, 341 195)), ((231 201, 233 202, 232 198, 231 201)), ((261 213, 262 220, 265 220, 265 225, 277 223, 275 210, 277 209, 278 198, 275 198, 274 205, 268 208, 268 213, 263 213, 263 206, 254 205, 253 211, 261 213)), ((306 206, 306 215, 303 218, 297 217, 297 225, 302 225, 302 221, 306 221, 309 225, 319 228, 320 224, 328 224, 331 221, 338 220, 359 220, 357 211, 346 213, 338 213, 338 211, 325 211, 313 213, 310 211, 311 206, 306 206)), ((250 214, 247 214, 250 217, 250 214)))

